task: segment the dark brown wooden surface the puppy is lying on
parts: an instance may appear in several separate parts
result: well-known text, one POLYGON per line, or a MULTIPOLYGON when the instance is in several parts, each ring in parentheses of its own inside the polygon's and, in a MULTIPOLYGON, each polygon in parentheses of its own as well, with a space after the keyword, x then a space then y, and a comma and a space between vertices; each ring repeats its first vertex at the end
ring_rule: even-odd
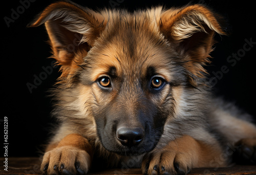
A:
MULTIPOLYGON (((0 174, 41 174, 39 158, 8 158, 8 171, 4 170, 5 158, 0 158, 0 174)), ((140 175, 140 169, 109 169, 101 172, 91 172, 89 174, 130 174, 140 175)), ((234 165, 228 168, 194 168, 189 174, 254 174, 256 175, 256 165, 241 166, 234 165)))

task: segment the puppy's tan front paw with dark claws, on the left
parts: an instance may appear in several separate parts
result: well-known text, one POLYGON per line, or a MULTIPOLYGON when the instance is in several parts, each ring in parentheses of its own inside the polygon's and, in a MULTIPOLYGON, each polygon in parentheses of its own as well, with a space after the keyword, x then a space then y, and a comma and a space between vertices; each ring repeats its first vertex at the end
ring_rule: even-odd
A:
POLYGON ((74 146, 62 146, 45 153, 41 164, 43 174, 86 174, 90 155, 74 146))

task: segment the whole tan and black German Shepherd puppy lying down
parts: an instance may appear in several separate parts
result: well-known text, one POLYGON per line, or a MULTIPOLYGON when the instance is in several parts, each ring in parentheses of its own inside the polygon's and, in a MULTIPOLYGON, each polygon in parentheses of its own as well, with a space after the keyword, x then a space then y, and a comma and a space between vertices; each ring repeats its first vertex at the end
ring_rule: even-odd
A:
POLYGON ((42 24, 61 71, 53 91, 60 125, 42 173, 104 165, 186 174, 227 166, 233 152, 255 163, 250 116, 211 95, 206 82, 214 35, 225 30, 205 6, 131 13, 61 1, 28 26, 42 24))

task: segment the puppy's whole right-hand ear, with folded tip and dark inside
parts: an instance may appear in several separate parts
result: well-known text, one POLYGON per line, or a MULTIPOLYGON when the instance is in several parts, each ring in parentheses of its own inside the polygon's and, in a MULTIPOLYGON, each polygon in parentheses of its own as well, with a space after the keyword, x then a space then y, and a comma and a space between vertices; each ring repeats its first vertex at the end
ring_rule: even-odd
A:
POLYGON ((176 43, 194 85, 195 77, 203 77, 206 73, 203 65, 210 62, 208 57, 215 43, 214 34, 225 35, 220 21, 220 17, 202 5, 170 9, 161 15, 160 30, 176 43))

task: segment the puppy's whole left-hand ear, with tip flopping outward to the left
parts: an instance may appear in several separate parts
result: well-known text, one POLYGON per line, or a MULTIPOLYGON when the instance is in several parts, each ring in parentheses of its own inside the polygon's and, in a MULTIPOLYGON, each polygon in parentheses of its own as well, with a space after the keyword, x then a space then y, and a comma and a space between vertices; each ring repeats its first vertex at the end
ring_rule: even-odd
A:
POLYGON ((104 28, 104 18, 93 10, 62 1, 49 5, 28 27, 41 24, 46 26, 53 58, 61 65, 61 78, 72 74, 82 57, 94 46, 104 28))

